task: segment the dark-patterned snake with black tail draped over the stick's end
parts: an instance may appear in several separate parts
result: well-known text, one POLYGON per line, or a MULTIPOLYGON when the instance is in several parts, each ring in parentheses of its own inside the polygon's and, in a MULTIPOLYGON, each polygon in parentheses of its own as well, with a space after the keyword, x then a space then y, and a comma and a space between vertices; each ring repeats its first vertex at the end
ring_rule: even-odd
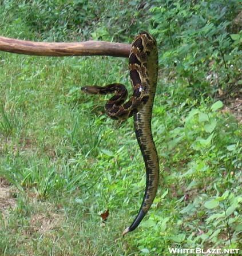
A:
POLYGON ((140 210, 133 223, 122 235, 140 225, 156 196, 159 180, 159 160, 152 136, 152 108, 158 76, 158 50, 153 36, 143 31, 134 38, 129 53, 129 76, 133 86, 128 101, 128 91, 123 84, 84 86, 88 94, 114 94, 105 104, 105 112, 114 120, 126 120, 133 116, 134 131, 146 169, 145 193, 140 210))

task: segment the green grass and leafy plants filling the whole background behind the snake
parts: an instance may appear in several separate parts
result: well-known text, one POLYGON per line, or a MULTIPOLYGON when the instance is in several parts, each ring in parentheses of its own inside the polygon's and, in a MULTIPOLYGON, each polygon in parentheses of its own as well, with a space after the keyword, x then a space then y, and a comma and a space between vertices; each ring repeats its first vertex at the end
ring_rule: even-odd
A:
POLYGON ((0 1, 1 36, 131 42, 148 30, 162 71, 152 119, 160 187, 141 225, 122 238, 145 187, 132 119, 110 120, 108 96, 80 87, 130 87, 127 61, 0 54, 0 176, 13 189, 1 200, 0 186, 1 255, 241 247, 242 127, 213 99, 218 89, 240 90, 239 12, 233 0, 0 1))

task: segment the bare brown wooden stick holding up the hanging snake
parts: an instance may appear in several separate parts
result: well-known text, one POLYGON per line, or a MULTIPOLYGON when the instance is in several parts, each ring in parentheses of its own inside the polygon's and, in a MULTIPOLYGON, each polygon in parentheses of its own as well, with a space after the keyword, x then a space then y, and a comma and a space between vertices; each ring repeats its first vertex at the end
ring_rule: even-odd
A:
POLYGON ((86 42, 32 42, 0 37, 0 50, 37 56, 105 55, 129 57, 131 45, 105 41, 86 42))

